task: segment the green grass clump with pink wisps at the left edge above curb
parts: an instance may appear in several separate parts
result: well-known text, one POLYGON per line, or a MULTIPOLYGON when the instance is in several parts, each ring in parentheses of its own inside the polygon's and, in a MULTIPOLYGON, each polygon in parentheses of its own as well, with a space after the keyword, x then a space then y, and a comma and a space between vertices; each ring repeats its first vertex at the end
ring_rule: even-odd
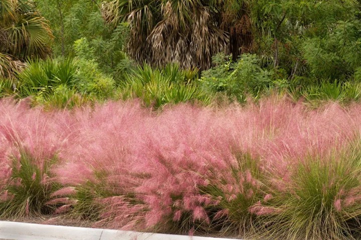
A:
POLYGON ((12 161, 12 173, 2 187, 0 216, 24 217, 50 214, 55 209, 47 204, 51 194, 60 187, 50 180, 50 167, 56 157, 40 161, 26 150, 21 150, 20 157, 12 161))

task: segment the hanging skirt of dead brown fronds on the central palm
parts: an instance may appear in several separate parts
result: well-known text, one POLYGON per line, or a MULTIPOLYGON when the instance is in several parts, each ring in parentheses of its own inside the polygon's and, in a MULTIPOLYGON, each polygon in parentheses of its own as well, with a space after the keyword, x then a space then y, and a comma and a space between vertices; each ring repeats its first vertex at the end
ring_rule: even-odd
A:
POLYGON ((163 20, 148 36, 153 63, 178 62, 184 68, 209 68, 212 55, 226 50, 228 34, 217 27, 209 7, 185 5, 189 14, 177 14, 182 8, 179 4, 174 8, 169 1, 162 6, 163 20))

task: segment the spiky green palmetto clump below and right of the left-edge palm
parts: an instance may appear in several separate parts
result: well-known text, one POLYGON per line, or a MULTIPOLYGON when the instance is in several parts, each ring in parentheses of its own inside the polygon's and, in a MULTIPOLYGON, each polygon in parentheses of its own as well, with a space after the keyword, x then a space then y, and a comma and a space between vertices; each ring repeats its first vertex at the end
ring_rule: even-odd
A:
POLYGON ((77 72, 79 63, 72 58, 48 58, 28 61, 28 66, 18 72, 15 93, 20 97, 32 96, 33 104, 51 107, 73 107, 90 100, 79 93, 77 72))

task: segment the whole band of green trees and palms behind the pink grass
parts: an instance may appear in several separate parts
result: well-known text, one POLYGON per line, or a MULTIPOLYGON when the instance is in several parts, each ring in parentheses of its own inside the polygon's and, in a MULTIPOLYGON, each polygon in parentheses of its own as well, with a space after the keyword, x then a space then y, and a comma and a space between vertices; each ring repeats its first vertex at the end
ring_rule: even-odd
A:
MULTIPOLYGON (((274 87, 296 98, 320 96, 322 85, 337 99, 350 85, 358 91, 360 26, 356 0, 3 0, 0 89, 28 89, 20 95, 41 92, 42 98, 66 83, 62 89, 87 96, 141 96, 129 90, 134 71, 143 74, 148 64, 164 77, 163 67, 176 64, 186 75, 199 71, 192 79, 170 77, 172 84, 156 83, 159 76, 151 81, 171 89, 193 84, 239 100, 274 87), (45 67, 39 61, 49 57, 71 59, 71 79, 54 78, 54 64, 40 80, 22 76, 30 63, 39 73, 45 67)), ((136 89, 152 78, 144 82, 139 74, 136 89)))

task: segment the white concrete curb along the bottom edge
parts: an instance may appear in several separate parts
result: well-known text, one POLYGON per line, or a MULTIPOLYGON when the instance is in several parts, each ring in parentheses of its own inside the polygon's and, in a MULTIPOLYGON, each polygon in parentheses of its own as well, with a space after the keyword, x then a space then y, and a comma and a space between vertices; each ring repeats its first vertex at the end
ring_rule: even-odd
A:
POLYGON ((234 240, 0 221, 0 240, 234 240))

